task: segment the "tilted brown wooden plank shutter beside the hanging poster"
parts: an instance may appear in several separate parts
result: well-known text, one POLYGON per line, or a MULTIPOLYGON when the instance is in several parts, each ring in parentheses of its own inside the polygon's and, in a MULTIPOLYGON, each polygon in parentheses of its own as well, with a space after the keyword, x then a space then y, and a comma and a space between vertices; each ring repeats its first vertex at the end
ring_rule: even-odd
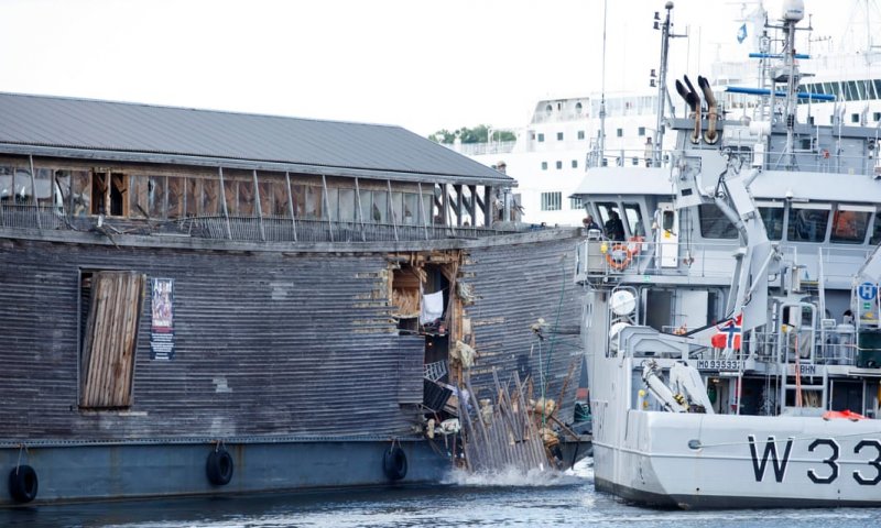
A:
POLYGON ((144 275, 135 272, 98 272, 93 275, 83 345, 81 407, 131 405, 144 282, 144 275))

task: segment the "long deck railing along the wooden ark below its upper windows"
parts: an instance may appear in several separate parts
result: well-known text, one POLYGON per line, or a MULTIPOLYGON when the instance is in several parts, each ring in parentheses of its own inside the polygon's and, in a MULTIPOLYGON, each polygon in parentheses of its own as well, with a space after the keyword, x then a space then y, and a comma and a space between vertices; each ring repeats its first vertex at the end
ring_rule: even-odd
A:
POLYGON ((181 235, 253 242, 395 242, 438 239, 479 239, 511 234, 531 226, 393 224, 359 221, 291 219, 290 217, 222 215, 171 220, 105 216, 69 216, 57 206, 3 204, 0 228, 26 230, 101 231, 107 234, 181 235))

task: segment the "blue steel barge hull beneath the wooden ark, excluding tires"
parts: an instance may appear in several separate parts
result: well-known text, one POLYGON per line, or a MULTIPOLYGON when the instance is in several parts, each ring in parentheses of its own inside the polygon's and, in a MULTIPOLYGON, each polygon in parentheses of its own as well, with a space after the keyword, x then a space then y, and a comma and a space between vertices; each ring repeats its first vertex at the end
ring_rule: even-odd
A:
MULTIPOLYGON (((224 446, 233 462, 226 485, 213 484, 206 471, 216 444, 207 441, 47 443, 0 449, 4 481, 17 466, 37 475, 36 498, 65 503, 143 497, 221 495, 255 492, 355 488, 437 483, 450 470, 443 449, 426 440, 395 442, 406 458, 403 479, 384 471, 388 439, 279 439, 224 446)), ((443 442, 439 444, 443 448, 443 442)), ((4 482, 6 483, 6 482, 4 482)), ((19 503, 0 494, 0 506, 19 503)))

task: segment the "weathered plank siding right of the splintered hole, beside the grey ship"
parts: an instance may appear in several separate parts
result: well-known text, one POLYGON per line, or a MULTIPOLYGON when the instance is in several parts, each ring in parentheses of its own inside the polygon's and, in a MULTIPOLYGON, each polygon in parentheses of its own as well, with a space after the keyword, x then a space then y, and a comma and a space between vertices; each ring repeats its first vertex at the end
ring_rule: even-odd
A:
POLYGON ((466 317, 471 319, 479 354, 471 372, 478 398, 492 397, 492 369, 498 369, 502 383, 514 370, 521 380, 532 380, 536 399, 544 371, 547 395, 556 400, 575 362, 558 415, 566 421, 572 419, 583 354, 580 339, 575 334, 554 336, 552 330, 557 326, 573 331, 579 324, 583 293, 573 284, 573 240, 561 240, 468 251, 461 282, 470 284, 477 297, 466 307, 466 317), (548 324, 544 341, 530 328, 539 318, 548 324))

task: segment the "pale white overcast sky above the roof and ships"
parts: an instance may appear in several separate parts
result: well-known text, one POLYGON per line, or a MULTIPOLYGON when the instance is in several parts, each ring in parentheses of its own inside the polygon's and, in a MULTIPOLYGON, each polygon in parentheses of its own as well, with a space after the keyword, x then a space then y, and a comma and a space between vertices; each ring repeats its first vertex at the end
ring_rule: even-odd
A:
MULTIPOLYGON (((862 0, 875 3, 877 0, 862 0)), ((671 74, 743 54, 744 2, 675 0, 671 74)), ((747 10, 751 10, 746 2, 747 10)), ((765 2, 779 12, 780 0, 765 2)), ((395 124, 516 128, 548 97, 643 90, 660 0, 0 0, 0 91, 395 124), (605 81, 603 81, 605 79, 605 81)), ((849 1, 813 0, 846 38, 849 1)), ((706 75, 706 74, 705 74, 706 75)))

